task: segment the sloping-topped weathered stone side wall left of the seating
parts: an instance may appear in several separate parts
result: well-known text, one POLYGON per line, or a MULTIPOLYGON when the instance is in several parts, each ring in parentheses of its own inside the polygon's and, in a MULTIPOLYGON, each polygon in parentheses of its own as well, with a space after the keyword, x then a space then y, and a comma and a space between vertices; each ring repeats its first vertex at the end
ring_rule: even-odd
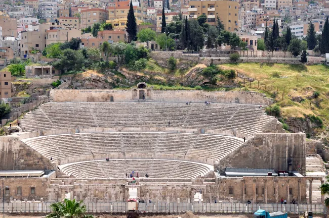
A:
POLYGON ((33 150, 18 136, 0 137, 0 170, 53 169, 51 161, 33 150))

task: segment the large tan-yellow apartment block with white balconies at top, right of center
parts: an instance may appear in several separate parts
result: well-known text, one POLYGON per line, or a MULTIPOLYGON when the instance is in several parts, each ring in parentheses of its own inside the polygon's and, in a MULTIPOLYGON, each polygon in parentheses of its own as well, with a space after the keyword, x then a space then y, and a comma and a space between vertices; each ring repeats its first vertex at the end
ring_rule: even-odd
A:
POLYGON ((188 9, 189 19, 197 19, 200 15, 207 15, 207 23, 216 25, 217 16, 228 31, 237 31, 239 3, 233 1, 190 1, 188 9))

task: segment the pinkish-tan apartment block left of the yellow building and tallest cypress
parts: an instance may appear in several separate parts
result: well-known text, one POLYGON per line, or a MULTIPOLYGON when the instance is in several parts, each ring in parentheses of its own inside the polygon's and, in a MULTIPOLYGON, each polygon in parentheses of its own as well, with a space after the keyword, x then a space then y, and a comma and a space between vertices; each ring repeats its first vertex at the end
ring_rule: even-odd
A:
POLYGON ((108 18, 108 11, 100 8, 84 9, 80 11, 80 28, 93 26, 94 23, 102 23, 108 18))

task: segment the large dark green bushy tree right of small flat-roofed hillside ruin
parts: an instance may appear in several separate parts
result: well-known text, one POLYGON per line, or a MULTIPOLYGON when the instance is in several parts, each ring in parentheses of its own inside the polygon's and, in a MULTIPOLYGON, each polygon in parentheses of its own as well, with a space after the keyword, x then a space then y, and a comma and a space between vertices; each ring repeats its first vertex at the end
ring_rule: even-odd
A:
POLYGON ((63 71, 80 71, 83 70, 84 63, 85 57, 80 50, 65 49, 53 66, 63 71))

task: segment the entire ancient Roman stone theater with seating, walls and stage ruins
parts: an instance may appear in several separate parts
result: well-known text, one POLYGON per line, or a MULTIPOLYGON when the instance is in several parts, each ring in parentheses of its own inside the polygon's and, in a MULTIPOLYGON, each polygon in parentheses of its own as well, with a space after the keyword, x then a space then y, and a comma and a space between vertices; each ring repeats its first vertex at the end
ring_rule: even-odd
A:
POLYGON ((265 114, 265 94, 141 82, 53 89, 49 101, 1 137, 6 203, 323 204, 323 161, 309 155, 304 133, 285 133, 265 114))

